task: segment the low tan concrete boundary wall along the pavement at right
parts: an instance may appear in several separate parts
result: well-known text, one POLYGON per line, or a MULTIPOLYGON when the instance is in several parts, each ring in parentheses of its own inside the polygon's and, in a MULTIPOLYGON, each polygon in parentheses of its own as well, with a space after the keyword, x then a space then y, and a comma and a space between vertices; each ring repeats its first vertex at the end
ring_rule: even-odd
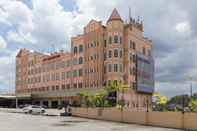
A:
POLYGON ((197 113, 143 112, 117 108, 73 108, 72 114, 99 120, 197 130, 197 113))

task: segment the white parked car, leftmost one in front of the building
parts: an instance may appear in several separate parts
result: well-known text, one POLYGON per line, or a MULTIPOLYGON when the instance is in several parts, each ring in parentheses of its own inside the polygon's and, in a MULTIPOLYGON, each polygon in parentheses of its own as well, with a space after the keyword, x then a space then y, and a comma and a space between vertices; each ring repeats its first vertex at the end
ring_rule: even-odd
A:
POLYGON ((34 114, 34 113, 41 114, 41 113, 45 113, 45 109, 42 106, 29 105, 23 108, 23 112, 30 114, 34 114))

